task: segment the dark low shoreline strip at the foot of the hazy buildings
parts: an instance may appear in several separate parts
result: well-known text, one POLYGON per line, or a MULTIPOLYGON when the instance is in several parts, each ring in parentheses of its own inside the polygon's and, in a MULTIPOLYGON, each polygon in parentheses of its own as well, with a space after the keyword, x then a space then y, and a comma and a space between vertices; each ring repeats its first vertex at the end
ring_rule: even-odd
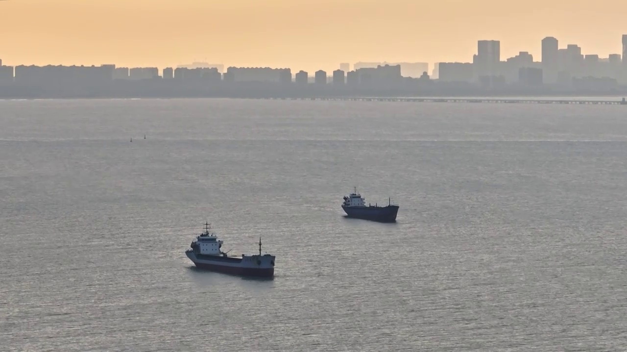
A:
POLYGON ((286 100, 365 100, 371 97, 387 99, 555 99, 574 97, 627 97, 627 86, 604 85, 505 85, 482 87, 470 83, 403 80, 384 85, 341 85, 276 82, 220 82, 177 80, 114 80, 104 84, 51 82, 11 83, 0 85, 0 99, 191 99, 244 98, 286 100))

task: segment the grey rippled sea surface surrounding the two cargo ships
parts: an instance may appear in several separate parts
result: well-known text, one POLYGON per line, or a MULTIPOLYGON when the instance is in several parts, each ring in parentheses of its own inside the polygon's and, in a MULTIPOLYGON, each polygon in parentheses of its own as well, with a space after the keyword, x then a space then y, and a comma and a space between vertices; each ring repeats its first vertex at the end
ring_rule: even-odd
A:
POLYGON ((626 109, 0 101, 0 345, 624 349, 626 109), (275 279, 194 269, 206 220, 275 279))

